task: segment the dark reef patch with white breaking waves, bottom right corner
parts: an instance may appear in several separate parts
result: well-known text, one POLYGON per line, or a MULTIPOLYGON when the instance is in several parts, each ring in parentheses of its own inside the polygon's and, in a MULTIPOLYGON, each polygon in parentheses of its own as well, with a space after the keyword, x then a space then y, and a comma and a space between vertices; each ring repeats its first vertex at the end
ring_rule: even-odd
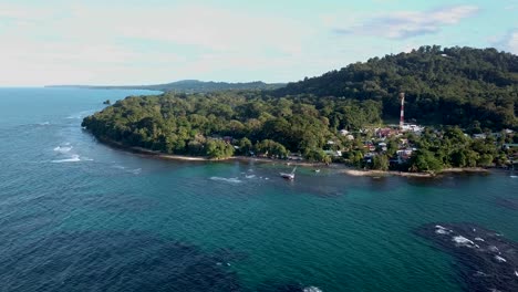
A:
POLYGON ((453 255, 466 291, 518 291, 518 243, 473 223, 428 223, 416 230, 453 255))

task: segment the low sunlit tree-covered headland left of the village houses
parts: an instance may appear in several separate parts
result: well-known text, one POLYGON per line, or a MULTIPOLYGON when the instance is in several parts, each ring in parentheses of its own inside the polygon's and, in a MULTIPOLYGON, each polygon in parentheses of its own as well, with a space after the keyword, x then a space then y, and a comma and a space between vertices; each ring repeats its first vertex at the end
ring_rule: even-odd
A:
POLYGON ((338 129, 376 123, 381 103, 374 101, 231 91, 126 97, 86 117, 83 126, 100 138, 167 154, 227 157, 234 148, 221 138, 231 136, 241 154, 300 152, 321 160, 328 140, 343 147, 338 129))

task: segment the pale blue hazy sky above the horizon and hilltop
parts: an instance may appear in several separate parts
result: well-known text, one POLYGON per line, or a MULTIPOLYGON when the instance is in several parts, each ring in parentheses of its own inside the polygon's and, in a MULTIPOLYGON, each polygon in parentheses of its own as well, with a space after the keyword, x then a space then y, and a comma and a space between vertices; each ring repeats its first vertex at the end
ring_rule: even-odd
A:
POLYGON ((0 0, 0 86, 290 82, 421 45, 518 54, 518 0, 0 0))

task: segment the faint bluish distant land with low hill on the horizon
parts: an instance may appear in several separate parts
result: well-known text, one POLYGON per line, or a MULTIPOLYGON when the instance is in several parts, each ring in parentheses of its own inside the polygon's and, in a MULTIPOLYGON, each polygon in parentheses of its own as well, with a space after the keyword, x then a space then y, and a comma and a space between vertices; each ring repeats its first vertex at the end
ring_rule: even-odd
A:
POLYGON ((74 87, 74 88, 97 88, 97 90, 148 90, 162 92, 179 92, 179 93, 209 93, 215 91, 263 91, 276 90, 286 86, 284 83, 265 83, 261 81, 229 83, 229 82, 204 82, 198 80, 183 80, 165 84, 155 85, 123 85, 123 86, 106 86, 106 85, 48 85, 45 87, 74 87))

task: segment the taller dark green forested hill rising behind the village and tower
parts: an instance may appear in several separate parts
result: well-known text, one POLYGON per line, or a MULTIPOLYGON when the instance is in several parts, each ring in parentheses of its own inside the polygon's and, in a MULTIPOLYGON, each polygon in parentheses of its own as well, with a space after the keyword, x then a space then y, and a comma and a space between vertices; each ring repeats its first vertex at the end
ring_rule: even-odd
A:
POLYGON ((396 118, 400 91, 406 93, 406 117, 418 123, 518 126, 518 56, 495 49, 422 46, 289 83, 274 95, 374 100, 383 103, 384 117, 396 118))

